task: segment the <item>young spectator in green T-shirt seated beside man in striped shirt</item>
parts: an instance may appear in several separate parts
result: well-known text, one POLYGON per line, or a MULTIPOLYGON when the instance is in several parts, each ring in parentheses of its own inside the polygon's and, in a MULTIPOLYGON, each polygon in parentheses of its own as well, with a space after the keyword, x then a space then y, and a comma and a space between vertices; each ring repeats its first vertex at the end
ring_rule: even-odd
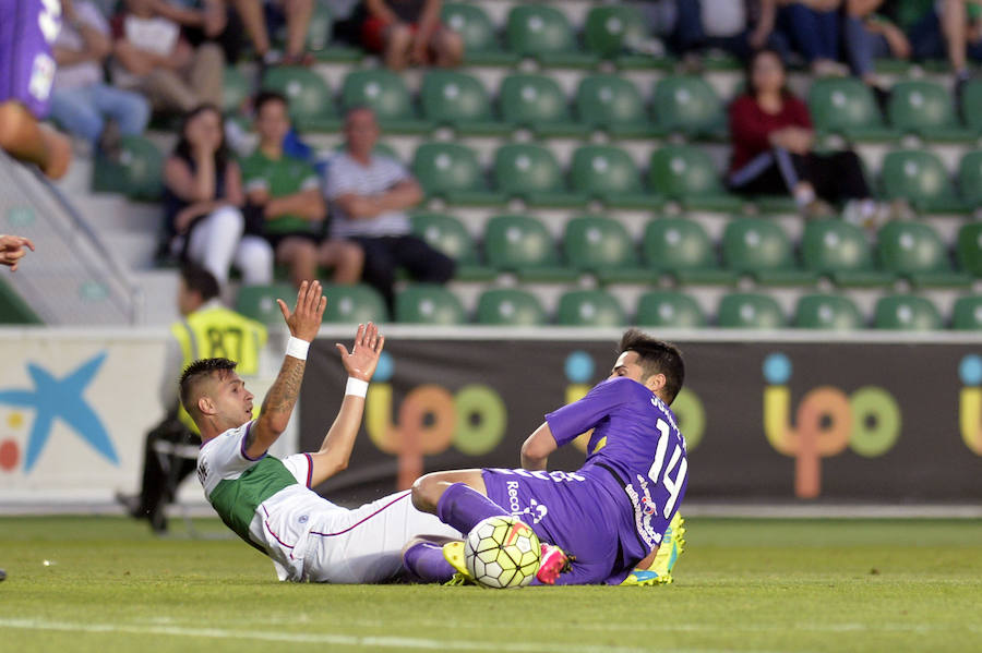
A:
POLYGON ((361 278, 361 247, 323 238, 327 206, 318 173, 309 162, 284 152, 290 131, 287 99, 264 92, 254 107, 260 142, 242 161, 242 179, 247 199, 265 219, 264 233, 276 261, 290 268, 298 288, 301 281, 318 277, 318 266, 334 268, 334 283, 356 283, 361 278))

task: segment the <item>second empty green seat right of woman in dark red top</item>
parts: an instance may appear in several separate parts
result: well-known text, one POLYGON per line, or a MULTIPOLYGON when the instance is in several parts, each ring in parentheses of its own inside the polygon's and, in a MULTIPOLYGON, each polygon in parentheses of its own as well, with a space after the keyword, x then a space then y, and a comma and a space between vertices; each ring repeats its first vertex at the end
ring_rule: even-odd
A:
POLYGON ((961 142, 973 136, 971 130, 958 124, 951 93, 933 82, 894 84, 887 113, 894 128, 923 138, 961 142))

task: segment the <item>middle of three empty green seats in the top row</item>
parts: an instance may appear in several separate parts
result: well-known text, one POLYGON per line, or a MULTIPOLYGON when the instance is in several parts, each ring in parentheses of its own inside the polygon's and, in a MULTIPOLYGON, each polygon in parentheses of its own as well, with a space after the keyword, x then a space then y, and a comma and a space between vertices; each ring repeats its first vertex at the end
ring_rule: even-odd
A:
POLYGON ((570 20, 548 4, 515 4, 505 25, 508 49, 520 57, 532 57, 543 65, 586 66, 595 55, 576 49, 570 20))

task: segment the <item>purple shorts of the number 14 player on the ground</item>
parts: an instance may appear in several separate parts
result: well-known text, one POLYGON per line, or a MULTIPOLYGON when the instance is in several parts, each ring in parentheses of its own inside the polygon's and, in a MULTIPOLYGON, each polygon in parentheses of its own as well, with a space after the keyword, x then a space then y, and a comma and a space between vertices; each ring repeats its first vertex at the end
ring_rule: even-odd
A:
POLYGON ((620 568, 618 519, 611 520, 620 507, 596 479, 504 469, 484 469, 481 475, 488 498, 530 525, 540 540, 576 557, 573 570, 556 584, 620 582, 630 572, 633 565, 620 568))

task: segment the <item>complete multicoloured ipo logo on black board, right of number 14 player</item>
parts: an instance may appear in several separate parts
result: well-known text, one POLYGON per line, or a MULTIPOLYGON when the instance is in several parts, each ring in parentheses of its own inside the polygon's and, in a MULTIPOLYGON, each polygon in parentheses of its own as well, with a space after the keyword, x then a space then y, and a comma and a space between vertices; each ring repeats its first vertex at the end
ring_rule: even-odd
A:
POLYGON ((791 361, 773 353, 764 361, 764 434, 770 446, 794 457, 794 495, 815 498, 822 493, 822 459, 847 447, 866 458, 889 451, 900 435, 900 407, 877 386, 846 395, 834 386, 805 392, 791 424, 791 361))

